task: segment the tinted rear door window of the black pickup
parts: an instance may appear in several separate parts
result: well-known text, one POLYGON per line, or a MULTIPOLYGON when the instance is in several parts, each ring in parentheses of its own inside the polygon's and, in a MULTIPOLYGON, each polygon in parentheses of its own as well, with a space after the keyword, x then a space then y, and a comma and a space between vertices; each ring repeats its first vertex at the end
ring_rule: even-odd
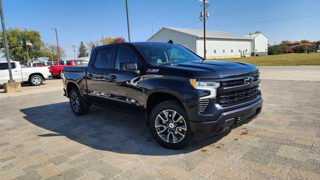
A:
POLYGON ((95 54, 94 67, 109 68, 112 58, 112 48, 98 49, 95 54))

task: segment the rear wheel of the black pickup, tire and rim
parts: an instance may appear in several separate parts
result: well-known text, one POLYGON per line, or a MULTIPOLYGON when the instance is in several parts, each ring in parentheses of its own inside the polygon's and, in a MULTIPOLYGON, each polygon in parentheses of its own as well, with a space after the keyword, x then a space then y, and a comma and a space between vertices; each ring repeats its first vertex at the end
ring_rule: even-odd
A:
POLYGON ((69 102, 71 110, 75 115, 84 115, 88 113, 89 106, 84 106, 82 97, 78 88, 74 87, 70 90, 69 93, 69 102))

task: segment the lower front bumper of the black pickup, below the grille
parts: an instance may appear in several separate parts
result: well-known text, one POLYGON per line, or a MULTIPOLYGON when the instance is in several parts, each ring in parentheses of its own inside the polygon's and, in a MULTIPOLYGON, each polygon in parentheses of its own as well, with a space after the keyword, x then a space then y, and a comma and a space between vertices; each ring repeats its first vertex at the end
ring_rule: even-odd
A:
POLYGON ((262 108, 263 99, 252 104, 221 112, 212 121, 192 121, 190 120, 191 130, 197 133, 217 134, 231 128, 247 123, 259 115, 262 108))

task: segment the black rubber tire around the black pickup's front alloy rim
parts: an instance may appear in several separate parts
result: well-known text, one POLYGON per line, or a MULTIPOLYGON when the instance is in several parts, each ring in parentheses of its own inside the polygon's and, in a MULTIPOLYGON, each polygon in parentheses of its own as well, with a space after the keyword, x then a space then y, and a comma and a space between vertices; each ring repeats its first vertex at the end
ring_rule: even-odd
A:
MULTIPOLYGON (((169 116, 169 114, 168 114, 169 116)), ((172 115, 171 115, 172 116, 172 115)), ((174 116, 173 116, 174 118, 174 116)), ((172 120, 172 119, 171 119, 172 120)), ((177 119, 175 119, 177 120, 177 119)), ((163 122, 163 121, 162 121, 163 122)), ((173 123, 173 120, 172 120, 172 123, 173 123)), ((163 129, 165 129, 164 131, 167 131, 167 127, 169 126, 165 124, 163 124, 164 127, 162 127, 163 129)), ((173 127, 176 131, 178 130, 177 128, 178 127, 173 127)), ((163 101, 159 104, 157 104, 151 111, 150 113, 150 116, 149 116, 149 129, 150 129, 150 132, 153 136, 153 138, 160 144, 162 145, 163 147, 165 148, 170 148, 170 149, 181 149, 185 146, 187 146, 193 139, 193 134, 192 134, 192 131, 191 131, 191 128, 190 128, 190 124, 189 124, 189 119, 188 119, 188 116, 185 112, 185 109, 184 107, 176 100, 166 100, 166 101, 163 101), (184 134, 184 137, 182 137, 179 141, 177 142, 168 142, 168 141, 165 141, 164 139, 162 139, 160 137, 160 135, 158 134, 158 131, 157 131, 157 127, 155 127, 155 123, 157 121, 157 116, 159 114, 164 114, 163 111, 166 111, 166 110, 171 110, 171 111, 175 111, 178 113, 178 115, 182 116, 183 119, 184 119, 184 123, 185 123, 185 127, 186 127, 186 130, 183 132, 185 133, 184 134)), ((169 132, 170 133, 172 131, 172 128, 169 129, 169 132)), ((182 131, 181 131, 182 132, 182 131)), ((175 133, 175 131, 174 131, 175 133)), ((173 141, 173 135, 174 133, 172 132, 171 135, 169 135, 169 138, 172 137, 172 141, 173 141)), ((167 136, 166 136, 167 137, 167 136)))

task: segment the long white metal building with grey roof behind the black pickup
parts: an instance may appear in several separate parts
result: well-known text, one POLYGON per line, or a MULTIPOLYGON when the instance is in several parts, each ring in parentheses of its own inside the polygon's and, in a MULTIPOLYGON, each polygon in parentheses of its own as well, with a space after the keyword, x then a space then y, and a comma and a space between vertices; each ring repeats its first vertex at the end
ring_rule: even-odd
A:
MULTIPOLYGON (((240 57, 251 55, 252 38, 222 31, 205 31, 207 58, 240 57)), ((203 56, 203 30, 162 27, 147 41, 166 42, 169 39, 203 56)), ((267 45, 267 41, 265 42, 267 45)))

